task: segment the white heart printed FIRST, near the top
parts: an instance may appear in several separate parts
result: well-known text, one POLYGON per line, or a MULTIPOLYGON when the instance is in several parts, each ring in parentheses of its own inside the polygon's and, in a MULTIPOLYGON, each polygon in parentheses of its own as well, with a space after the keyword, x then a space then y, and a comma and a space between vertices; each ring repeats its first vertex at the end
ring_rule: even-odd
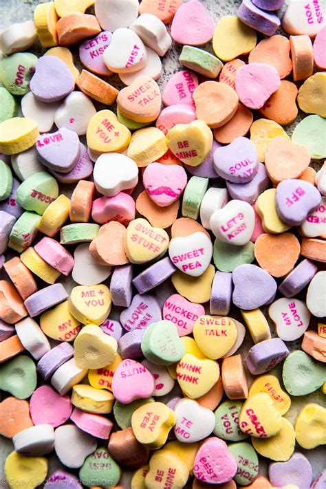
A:
POLYGON ((117 29, 103 53, 103 61, 113 73, 137 72, 147 63, 146 47, 133 30, 117 29))

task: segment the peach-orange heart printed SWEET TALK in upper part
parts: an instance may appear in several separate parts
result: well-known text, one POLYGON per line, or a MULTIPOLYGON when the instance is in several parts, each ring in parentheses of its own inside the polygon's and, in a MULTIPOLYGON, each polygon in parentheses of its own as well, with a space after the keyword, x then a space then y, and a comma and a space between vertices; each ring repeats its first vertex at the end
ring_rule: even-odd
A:
POLYGON ((150 76, 138 76, 129 87, 118 93, 118 109, 122 116, 135 122, 153 122, 161 110, 161 92, 150 76))

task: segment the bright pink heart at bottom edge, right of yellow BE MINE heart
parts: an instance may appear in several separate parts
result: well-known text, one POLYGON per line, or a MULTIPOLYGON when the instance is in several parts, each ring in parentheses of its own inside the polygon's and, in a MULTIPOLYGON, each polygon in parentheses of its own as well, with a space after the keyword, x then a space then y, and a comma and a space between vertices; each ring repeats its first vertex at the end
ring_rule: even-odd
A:
POLYGON ((210 437, 197 451, 193 473, 199 481, 211 484, 228 482, 237 472, 237 461, 226 442, 210 437))

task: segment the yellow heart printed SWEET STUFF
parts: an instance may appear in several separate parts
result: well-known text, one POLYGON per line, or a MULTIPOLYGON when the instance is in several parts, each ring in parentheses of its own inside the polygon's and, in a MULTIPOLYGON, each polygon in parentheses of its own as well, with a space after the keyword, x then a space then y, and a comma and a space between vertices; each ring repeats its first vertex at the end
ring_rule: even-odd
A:
POLYGON ((124 251, 131 263, 141 265, 155 260, 169 247, 169 235, 164 229, 153 228, 149 221, 134 219, 124 237, 124 251))

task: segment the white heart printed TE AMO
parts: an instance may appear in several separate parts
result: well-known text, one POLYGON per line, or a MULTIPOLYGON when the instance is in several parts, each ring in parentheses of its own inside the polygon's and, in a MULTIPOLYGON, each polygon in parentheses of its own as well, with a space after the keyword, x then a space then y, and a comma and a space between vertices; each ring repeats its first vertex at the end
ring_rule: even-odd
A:
POLYGON ((192 399, 180 400, 174 409, 176 420, 175 437, 182 443, 199 442, 212 433, 215 428, 213 411, 200 406, 192 399))

